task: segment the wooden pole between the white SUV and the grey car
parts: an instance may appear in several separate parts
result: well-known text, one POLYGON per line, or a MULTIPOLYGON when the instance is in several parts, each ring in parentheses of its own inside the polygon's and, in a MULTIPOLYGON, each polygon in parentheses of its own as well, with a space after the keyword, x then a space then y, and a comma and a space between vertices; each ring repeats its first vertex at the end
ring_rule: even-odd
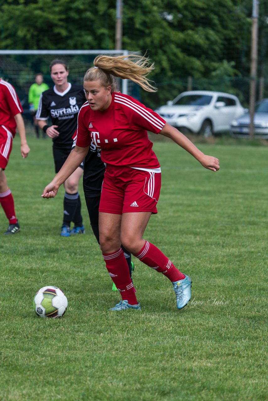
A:
POLYGON ((252 0, 251 63, 250 63, 250 137, 254 137, 254 113, 256 101, 256 79, 258 60, 259 2, 252 0))

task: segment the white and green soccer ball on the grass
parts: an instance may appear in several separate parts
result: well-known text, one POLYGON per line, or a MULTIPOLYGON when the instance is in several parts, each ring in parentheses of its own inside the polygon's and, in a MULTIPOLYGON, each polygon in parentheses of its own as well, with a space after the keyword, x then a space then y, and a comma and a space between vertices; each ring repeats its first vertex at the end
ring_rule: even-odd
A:
POLYGON ((64 292, 57 287, 40 288, 33 297, 35 313, 41 318, 61 318, 68 306, 64 292))

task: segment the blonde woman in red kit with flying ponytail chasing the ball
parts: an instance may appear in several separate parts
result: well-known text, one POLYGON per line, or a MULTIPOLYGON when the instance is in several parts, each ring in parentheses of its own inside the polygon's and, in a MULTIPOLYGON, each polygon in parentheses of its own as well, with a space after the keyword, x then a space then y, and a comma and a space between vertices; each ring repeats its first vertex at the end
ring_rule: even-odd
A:
POLYGON ((99 207, 100 249, 122 300, 110 310, 140 310, 121 244, 145 265, 165 275, 173 285, 177 308, 191 298, 191 279, 181 273, 160 249, 143 239, 151 214, 157 213, 161 169, 147 131, 164 135, 189 152, 203 167, 216 172, 219 160, 203 154, 188 138, 153 110, 131 96, 115 92, 115 77, 131 79, 155 91, 147 79, 153 70, 146 57, 99 55, 84 77, 86 103, 78 114, 74 151, 48 184, 44 198, 80 165, 93 140, 106 163, 99 207))

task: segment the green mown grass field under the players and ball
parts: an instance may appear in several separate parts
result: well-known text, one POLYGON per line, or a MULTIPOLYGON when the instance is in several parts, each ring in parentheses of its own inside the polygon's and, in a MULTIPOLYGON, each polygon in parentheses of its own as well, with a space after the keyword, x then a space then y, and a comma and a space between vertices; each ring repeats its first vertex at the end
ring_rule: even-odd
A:
POLYGON ((63 188, 41 198, 51 142, 29 146, 23 160, 16 137, 6 169, 21 232, 0 234, 0 400, 267 400, 267 147, 200 144, 213 173, 155 142, 163 184, 144 237, 190 275, 192 301, 178 311, 168 279, 133 258, 142 310, 116 313, 84 199, 86 235, 61 238, 63 188), (62 319, 33 311, 46 285, 65 291, 62 319))

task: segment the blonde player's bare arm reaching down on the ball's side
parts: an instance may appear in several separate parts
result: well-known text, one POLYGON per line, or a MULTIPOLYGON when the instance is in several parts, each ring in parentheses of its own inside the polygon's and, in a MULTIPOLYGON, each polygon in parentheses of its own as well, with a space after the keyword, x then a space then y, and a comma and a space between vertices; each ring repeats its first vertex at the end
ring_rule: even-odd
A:
POLYGON ((67 160, 54 177, 54 179, 48 184, 43 190, 41 195, 43 198, 55 198, 59 187, 68 177, 80 166, 86 155, 88 154, 89 146, 86 148, 80 148, 76 146, 74 150, 69 154, 67 160))

